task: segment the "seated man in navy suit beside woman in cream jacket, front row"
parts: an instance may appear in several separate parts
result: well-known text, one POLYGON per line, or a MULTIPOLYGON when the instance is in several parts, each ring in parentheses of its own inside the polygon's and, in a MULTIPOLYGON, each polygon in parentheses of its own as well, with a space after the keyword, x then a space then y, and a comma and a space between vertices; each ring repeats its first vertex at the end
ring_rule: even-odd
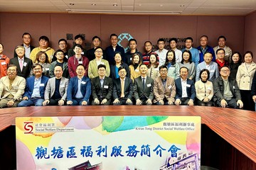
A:
POLYGON ((188 79, 188 68, 180 68, 181 77, 175 80, 176 85, 176 105, 193 106, 196 97, 196 89, 193 80, 188 79), (186 89, 186 91, 184 90, 186 89))

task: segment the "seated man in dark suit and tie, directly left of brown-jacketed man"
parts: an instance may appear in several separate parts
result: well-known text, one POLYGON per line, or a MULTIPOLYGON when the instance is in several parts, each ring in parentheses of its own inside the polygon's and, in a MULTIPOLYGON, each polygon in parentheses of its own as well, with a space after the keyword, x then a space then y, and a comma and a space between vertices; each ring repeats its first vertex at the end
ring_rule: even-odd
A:
POLYGON ((154 98, 154 80, 146 76, 146 64, 139 66, 141 76, 134 80, 134 98, 136 105, 151 105, 154 98))

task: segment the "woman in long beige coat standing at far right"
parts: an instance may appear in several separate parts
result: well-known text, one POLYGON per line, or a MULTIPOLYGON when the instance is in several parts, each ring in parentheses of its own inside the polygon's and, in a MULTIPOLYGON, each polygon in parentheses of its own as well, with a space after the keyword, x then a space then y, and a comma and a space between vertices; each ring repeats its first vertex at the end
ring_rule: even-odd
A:
POLYGON ((255 105, 252 101, 252 96, 250 94, 252 79, 255 74, 256 64, 252 62, 252 52, 247 51, 244 55, 244 60, 239 67, 238 73, 236 75, 236 81, 238 83, 238 87, 240 89, 242 103, 244 103, 243 108, 248 111, 254 111, 255 105))

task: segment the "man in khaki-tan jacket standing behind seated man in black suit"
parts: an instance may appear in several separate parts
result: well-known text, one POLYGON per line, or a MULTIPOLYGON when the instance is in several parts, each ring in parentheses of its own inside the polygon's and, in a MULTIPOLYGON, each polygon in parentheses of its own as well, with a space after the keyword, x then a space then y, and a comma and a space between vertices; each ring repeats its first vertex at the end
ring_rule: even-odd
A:
POLYGON ((103 55, 102 47, 96 47, 95 48, 95 60, 92 60, 89 62, 88 77, 90 79, 99 76, 97 67, 100 64, 104 64, 106 66, 105 76, 110 77, 110 64, 109 64, 109 62, 107 62, 107 60, 102 59, 102 55, 103 55))

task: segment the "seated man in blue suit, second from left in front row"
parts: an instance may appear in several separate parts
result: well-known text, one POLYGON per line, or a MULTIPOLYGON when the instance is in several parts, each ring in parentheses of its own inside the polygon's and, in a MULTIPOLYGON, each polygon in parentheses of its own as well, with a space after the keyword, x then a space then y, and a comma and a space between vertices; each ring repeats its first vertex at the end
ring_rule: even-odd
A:
POLYGON ((18 103, 18 107, 32 105, 43 106, 44 92, 49 78, 42 76, 43 67, 41 64, 34 64, 32 69, 35 76, 26 79, 26 89, 22 98, 23 101, 18 103))

